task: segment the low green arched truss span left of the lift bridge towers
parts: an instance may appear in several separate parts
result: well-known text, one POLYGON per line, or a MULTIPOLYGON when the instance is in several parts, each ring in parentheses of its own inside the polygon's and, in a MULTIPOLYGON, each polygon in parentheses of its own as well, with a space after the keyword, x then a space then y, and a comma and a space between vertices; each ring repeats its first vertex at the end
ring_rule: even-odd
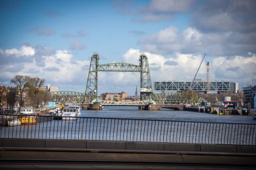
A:
POLYGON ((52 101, 59 102, 75 102, 82 103, 84 101, 84 93, 75 91, 57 91, 51 93, 52 101))

